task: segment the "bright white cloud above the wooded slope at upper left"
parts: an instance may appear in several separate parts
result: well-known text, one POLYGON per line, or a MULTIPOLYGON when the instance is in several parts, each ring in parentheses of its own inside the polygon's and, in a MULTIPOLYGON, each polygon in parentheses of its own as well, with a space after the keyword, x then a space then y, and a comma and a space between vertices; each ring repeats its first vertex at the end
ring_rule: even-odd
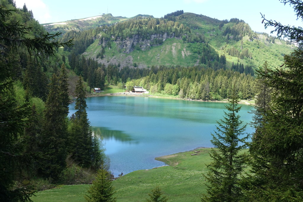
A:
POLYGON ((17 8, 23 8, 25 3, 28 10, 32 10, 34 18, 40 22, 40 24, 50 22, 51 15, 49 13, 47 5, 42 0, 15 0, 17 8))

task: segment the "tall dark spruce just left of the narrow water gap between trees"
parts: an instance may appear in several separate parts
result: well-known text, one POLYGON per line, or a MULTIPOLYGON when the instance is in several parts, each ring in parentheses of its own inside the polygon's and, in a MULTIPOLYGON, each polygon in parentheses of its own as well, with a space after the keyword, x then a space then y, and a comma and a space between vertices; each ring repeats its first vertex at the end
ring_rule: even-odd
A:
POLYGON ((52 180, 58 180, 66 167, 67 157, 67 114, 68 92, 65 65, 59 74, 52 76, 49 93, 45 103, 45 120, 41 142, 42 166, 39 173, 52 180))

